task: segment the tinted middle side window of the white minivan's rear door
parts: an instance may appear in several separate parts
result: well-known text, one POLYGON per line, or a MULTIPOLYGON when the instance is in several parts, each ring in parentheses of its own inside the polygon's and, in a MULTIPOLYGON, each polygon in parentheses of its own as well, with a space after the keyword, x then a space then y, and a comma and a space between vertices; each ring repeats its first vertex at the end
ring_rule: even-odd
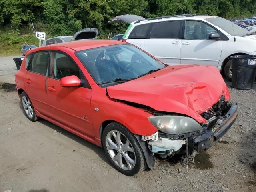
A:
POLYGON ((178 39, 181 21, 154 23, 150 32, 151 39, 178 39))

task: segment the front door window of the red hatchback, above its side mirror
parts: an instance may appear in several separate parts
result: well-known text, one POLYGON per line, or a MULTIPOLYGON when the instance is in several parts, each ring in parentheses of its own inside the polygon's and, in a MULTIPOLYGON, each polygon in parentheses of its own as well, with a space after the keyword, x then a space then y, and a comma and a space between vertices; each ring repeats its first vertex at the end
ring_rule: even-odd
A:
POLYGON ((52 77, 61 79, 62 77, 75 75, 80 78, 78 66, 71 60, 70 57, 59 53, 52 52, 53 72, 52 77))

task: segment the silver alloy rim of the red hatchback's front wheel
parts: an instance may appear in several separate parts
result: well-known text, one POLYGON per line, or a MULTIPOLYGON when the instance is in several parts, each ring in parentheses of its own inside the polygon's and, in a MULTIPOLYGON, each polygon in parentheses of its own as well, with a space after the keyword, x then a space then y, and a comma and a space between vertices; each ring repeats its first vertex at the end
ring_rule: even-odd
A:
POLYGON ((108 132, 106 148, 113 162, 123 170, 132 170, 136 163, 136 156, 130 141, 117 130, 108 132))

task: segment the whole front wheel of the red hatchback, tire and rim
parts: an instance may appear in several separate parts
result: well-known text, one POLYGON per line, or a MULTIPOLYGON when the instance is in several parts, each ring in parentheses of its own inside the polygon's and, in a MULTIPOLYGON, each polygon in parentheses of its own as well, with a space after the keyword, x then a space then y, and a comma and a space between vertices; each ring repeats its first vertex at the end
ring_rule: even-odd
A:
POLYGON ((123 125, 112 122, 103 130, 102 145, 111 164, 119 172, 133 176, 146 167, 138 140, 123 125))

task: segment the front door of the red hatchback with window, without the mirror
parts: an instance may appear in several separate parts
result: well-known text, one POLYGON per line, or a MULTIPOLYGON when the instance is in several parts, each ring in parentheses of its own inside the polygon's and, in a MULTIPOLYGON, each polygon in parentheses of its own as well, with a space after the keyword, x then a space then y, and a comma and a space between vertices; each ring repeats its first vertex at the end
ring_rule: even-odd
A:
POLYGON ((92 90, 84 74, 74 60, 63 52, 52 51, 51 61, 47 91, 53 118, 64 126, 94 137, 90 113, 92 90), (71 75, 81 79, 81 86, 60 86, 60 79, 71 75))

